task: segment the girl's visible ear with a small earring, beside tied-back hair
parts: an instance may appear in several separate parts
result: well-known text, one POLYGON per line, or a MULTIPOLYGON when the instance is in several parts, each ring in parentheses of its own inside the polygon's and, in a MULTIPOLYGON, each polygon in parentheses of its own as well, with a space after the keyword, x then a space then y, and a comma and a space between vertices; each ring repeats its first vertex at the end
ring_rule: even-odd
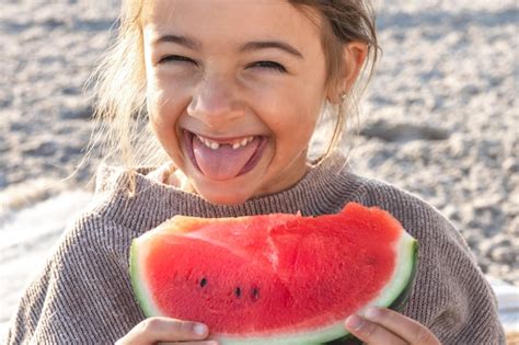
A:
POLYGON ((368 56, 368 45, 364 42, 349 42, 344 45, 344 74, 337 83, 338 90, 331 90, 328 99, 334 103, 342 102, 341 94, 349 92, 359 77, 364 62, 368 56))

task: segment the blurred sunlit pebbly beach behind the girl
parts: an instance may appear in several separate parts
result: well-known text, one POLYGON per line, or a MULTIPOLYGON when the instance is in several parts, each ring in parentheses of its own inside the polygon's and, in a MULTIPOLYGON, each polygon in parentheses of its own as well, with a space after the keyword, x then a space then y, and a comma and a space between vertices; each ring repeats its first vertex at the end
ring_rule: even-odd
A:
MULTIPOLYGON (((488 277, 519 286, 517 1, 377 8, 383 55, 359 135, 346 140, 351 165, 432 204, 488 277)), ((115 0, 0 0, 0 335, 91 199, 100 154, 82 162, 93 129, 83 87, 117 10, 115 0)))

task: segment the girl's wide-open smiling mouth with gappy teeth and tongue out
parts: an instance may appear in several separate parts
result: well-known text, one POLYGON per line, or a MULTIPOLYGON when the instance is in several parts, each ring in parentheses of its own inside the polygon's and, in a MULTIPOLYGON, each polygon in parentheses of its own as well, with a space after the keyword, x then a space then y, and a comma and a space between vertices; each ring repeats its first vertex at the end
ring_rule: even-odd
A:
POLYGON ((183 129, 183 134, 193 165, 215 181, 228 181, 253 170, 268 141, 266 136, 261 135, 214 138, 186 129, 183 129))

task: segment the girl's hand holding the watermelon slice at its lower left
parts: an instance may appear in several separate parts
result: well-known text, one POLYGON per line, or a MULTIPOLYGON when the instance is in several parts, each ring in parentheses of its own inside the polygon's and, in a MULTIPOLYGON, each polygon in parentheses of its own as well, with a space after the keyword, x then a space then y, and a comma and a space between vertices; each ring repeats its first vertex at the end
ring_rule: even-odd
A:
POLYGON ((218 345, 216 341, 204 341, 209 331, 205 324, 170 318, 149 318, 137 324, 115 345, 218 345))

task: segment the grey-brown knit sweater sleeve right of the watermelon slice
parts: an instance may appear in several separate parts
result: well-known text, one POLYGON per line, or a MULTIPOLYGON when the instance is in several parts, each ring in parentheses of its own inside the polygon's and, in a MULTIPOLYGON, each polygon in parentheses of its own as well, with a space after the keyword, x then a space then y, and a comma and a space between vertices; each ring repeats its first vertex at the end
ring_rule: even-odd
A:
POLYGON ((418 238, 419 254, 404 313, 445 345, 505 344, 494 291, 458 229, 428 205, 407 223, 418 238))

